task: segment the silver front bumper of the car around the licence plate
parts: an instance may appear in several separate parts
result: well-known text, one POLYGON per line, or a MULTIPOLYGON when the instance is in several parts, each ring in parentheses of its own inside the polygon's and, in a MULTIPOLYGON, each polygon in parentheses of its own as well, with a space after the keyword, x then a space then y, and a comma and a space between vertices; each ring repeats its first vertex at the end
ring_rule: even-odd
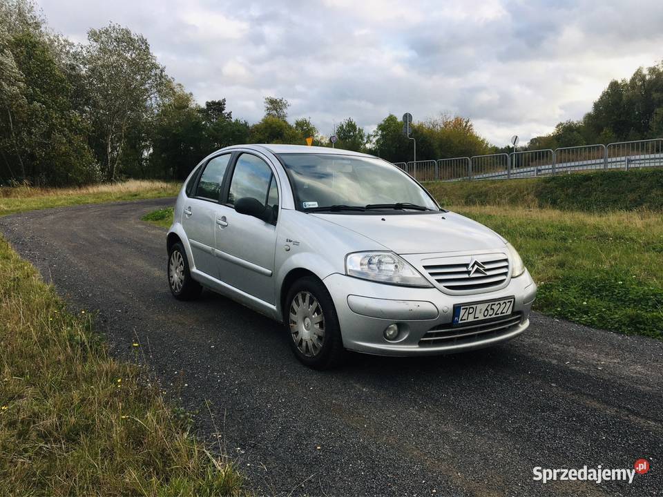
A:
MULTIPOLYGON (((529 326, 529 315, 537 293, 537 285, 528 271, 511 278, 503 289, 473 295, 448 295, 436 288, 394 286, 338 273, 329 275, 324 281, 336 306, 344 347, 376 355, 436 355, 480 349, 511 340, 529 326), (512 316, 520 317, 507 329, 443 340, 442 343, 420 342, 429 331, 450 327, 455 304, 507 297, 515 298, 512 316), (395 341, 389 341, 383 335, 385 328, 392 323, 398 324, 401 330, 395 341)), ((449 332, 453 334, 457 330, 454 328, 449 332)))

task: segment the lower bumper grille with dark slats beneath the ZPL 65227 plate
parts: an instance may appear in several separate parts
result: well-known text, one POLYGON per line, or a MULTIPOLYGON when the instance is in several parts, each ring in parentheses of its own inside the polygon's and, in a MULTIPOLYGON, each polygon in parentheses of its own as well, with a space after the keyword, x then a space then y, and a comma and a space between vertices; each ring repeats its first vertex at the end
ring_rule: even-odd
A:
POLYGON ((423 335, 423 338, 419 340, 419 345, 421 347, 439 347, 440 345, 481 342, 488 338, 507 335, 519 326, 521 320, 521 313, 513 313, 478 324, 461 324, 456 327, 450 323, 440 324, 423 335))

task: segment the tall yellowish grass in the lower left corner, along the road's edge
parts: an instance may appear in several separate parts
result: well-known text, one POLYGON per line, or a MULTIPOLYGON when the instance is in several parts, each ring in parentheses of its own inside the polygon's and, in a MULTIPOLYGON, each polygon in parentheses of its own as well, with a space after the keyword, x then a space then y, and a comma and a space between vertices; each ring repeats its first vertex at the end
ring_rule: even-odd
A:
POLYGON ((0 274, 0 495, 242 494, 231 463, 4 240, 0 274))

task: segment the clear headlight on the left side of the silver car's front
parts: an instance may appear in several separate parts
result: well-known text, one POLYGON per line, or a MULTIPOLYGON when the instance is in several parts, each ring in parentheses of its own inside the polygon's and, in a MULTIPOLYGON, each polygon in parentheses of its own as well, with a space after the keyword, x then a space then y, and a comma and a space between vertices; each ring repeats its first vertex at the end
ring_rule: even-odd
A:
POLYGON ((432 286, 407 261, 392 252, 355 252, 345 257, 345 274, 403 286, 432 286))

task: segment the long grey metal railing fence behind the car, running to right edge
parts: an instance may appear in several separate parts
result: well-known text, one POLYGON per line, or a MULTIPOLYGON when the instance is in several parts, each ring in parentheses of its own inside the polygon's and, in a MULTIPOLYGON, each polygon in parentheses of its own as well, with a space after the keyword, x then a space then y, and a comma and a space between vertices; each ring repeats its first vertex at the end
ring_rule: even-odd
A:
POLYGON ((663 138, 394 164, 423 182, 510 179, 590 170, 663 167, 663 138))

